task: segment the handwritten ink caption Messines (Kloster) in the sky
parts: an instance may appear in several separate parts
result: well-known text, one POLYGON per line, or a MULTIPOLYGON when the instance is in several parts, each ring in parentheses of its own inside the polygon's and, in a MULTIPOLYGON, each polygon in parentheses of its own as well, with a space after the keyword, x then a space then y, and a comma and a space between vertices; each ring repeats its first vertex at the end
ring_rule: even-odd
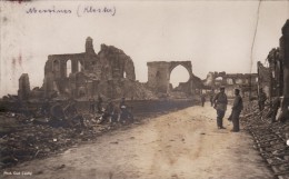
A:
POLYGON ((76 14, 77 17, 83 17, 87 14, 108 14, 114 17, 117 13, 116 7, 94 7, 94 6, 84 6, 79 4, 76 8, 66 9, 59 8, 56 6, 49 8, 37 8, 29 7, 26 9, 27 14, 76 14))

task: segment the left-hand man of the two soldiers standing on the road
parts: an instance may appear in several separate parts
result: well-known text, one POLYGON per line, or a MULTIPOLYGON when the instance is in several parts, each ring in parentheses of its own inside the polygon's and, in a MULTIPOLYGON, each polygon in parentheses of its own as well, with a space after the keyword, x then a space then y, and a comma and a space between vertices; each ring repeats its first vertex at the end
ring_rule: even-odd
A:
POLYGON ((220 92, 217 93, 213 98, 213 108, 217 110, 217 126, 218 129, 226 129, 222 126, 222 118, 227 110, 228 99, 227 95, 225 93, 225 87, 220 87, 220 92))

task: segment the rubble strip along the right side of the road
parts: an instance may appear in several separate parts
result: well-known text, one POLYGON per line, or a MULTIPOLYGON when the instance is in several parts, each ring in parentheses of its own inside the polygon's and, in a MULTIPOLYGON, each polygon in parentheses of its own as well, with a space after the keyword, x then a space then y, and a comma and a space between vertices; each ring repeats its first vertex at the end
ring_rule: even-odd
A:
POLYGON ((241 121, 255 139, 256 148, 279 179, 289 179, 289 122, 271 122, 269 108, 262 112, 252 102, 241 121))

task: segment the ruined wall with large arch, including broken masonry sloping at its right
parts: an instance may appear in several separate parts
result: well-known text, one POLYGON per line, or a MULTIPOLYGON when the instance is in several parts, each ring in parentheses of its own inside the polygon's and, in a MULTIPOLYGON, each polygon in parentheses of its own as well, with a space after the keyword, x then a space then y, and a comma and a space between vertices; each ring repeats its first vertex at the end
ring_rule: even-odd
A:
POLYGON ((181 84, 183 92, 193 93, 197 88, 201 89, 201 80, 192 73, 191 61, 152 61, 147 62, 147 66, 148 87, 156 92, 170 92, 170 74, 178 66, 185 67, 189 72, 189 80, 181 84))

